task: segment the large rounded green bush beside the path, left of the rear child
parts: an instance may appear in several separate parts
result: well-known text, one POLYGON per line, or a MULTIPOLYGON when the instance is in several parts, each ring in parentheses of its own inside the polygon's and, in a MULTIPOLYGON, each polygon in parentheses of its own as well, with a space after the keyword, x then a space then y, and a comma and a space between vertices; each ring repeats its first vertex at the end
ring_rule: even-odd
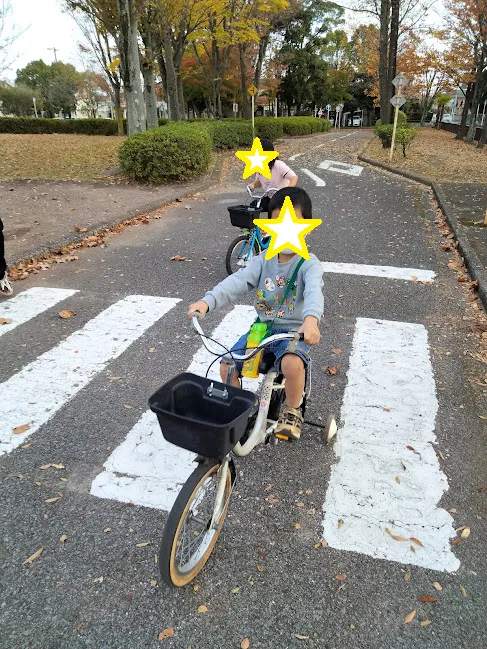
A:
POLYGON ((202 125, 168 124, 128 137, 120 147, 120 166, 135 180, 187 180, 208 169, 211 144, 202 125))

